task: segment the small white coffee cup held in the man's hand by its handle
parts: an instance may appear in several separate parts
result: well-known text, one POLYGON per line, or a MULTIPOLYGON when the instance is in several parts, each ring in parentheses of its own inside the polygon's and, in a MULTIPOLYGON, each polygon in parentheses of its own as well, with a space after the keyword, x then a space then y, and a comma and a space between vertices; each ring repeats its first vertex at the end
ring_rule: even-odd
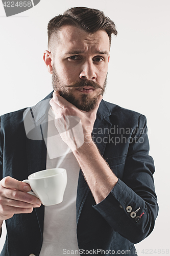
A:
POLYGON ((43 205, 55 205, 63 201, 67 185, 67 172, 64 168, 40 170, 22 182, 31 186, 34 193, 32 191, 28 193, 38 197, 43 205))

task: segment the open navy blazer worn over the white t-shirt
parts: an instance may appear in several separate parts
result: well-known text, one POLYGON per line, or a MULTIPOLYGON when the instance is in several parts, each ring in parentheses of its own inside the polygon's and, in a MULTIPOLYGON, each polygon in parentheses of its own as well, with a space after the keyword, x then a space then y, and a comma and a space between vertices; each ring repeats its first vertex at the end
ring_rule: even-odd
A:
MULTIPOLYGON (((46 168, 45 134, 50 98, 52 93, 32 108, 1 116, 1 179, 11 176, 22 181, 46 168), (39 137, 31 139, 35 134, 39 137)), ((80 170, 76 203, 80 252, 125 255, 129 250, 129 254, 136 255, 134 243, 152 232, 158 214, 146 119, 102 100, 92 137, 118 182, 106 199, 96 204, 80 170), (132 212, 136 210, 133 218, 132 212)), ((7 238, 1 256, 31 253, 38 256, 43 220, 43 205, 34 208, 31 214, 15 214, 6 220, 7 238)))

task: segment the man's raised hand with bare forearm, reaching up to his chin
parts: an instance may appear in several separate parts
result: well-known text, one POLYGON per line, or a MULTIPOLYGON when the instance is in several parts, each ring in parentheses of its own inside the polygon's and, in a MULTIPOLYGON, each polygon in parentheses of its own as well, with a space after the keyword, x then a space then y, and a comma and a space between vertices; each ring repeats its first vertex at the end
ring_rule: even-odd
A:
POLYGON ((57 130, 79 162, 96 203, 100 203, 108 196, 118 180, 91 138, 96 113, 101 100, 102 96, 95 109, 89 112, 79 110, 61 97, 58 92, 53 93, 53 99, 50 101, 56 117, 55 125, 57 130), (70 119, 68 118, 69 116, 70 119), (79 129, 71 129, 71 118, 75 120, 75 123, 76 121, 81 123, 82 130, 80 125, 79 129))

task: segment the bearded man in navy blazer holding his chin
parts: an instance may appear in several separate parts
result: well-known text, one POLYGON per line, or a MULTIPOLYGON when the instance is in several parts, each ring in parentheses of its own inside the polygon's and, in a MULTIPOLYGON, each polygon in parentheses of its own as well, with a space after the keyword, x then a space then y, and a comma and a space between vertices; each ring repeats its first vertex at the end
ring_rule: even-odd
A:
POLYGON ((152 232, 158 205, 145 117, 102 99, 112 33, 99 10, 53 18, 43 56, 53 98, 1 117, 1 255, 136 255, 133 243, 152 232), (44 207, 21 181, 55 167, 67 170, 64 199, 44 207))

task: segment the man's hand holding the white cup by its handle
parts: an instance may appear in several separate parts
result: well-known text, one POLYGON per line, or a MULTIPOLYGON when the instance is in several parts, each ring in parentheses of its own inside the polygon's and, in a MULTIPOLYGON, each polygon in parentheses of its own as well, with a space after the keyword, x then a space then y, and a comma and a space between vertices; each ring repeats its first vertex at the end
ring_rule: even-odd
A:
POLYGON ((29 184, 11 177, 0 181, 0 221, 10 219, 14 214, 28 214, 41 205, 40 200, 28 194, 29 184))

